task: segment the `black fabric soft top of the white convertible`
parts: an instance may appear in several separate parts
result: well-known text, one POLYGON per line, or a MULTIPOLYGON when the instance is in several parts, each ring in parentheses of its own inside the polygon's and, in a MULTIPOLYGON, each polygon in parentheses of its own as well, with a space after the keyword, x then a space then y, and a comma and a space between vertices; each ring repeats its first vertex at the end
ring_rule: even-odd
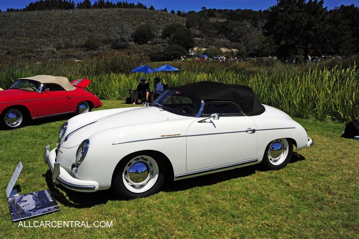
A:
POLYGON ((204 101, 231 101, 241 106, 247 115, 262 114, 266 110, 253 90, 247 86, 197 82, 169 89, 191 93, 204 101))

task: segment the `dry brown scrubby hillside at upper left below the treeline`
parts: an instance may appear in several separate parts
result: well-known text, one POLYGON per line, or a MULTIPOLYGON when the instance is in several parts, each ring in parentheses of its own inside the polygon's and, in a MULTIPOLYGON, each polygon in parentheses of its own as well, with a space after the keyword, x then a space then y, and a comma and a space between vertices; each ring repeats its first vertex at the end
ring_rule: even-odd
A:
MULTIPOLYGON (((145 9, 83 9, 30 12, 0 12, 0 61, 18 58, 82 58, 106 52, 118 26, 133 30, 149 24, 155 39, 149 45, 133 46, 137 51, 162 44, 163 27, 185 24, 186 18, 145 9), (89 39, 95 51, 84 49, 89 39)), ((131 48, 130 47, 130 48, 131 48)))

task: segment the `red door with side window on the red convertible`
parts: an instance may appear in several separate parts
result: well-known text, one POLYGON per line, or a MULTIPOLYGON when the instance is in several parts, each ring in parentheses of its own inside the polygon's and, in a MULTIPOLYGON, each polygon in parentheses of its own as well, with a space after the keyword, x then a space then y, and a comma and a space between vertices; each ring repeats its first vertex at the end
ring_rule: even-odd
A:
POLYGON ((57 84, 44 84, 38 97, 41 101, 37 105, 37 117, 73 112, 70 94, 57 84))

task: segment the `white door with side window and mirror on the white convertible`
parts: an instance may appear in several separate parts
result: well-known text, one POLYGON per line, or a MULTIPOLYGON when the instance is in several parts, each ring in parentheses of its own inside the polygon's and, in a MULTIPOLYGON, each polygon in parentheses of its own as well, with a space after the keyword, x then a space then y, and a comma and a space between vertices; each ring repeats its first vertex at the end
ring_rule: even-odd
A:
POLYGON ((202 119, 218 113, 218 120, 194 121, 187 130, 187 171, 215 168, 256 158, 255 124, 232 102, 206 102, 202 119))

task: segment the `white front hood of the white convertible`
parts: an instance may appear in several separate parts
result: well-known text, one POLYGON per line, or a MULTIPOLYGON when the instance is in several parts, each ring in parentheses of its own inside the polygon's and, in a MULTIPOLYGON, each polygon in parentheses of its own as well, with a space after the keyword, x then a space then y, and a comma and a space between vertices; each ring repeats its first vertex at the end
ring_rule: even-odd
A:
MULTIPOLYGON (((103 114, 111 112, 110 110, 101 110, 101 111, 103 111, 102 112, 103 114)), ((70 136, 68 136, 67 140, 63 141, 61 145, 64 148, 73 148, 78 146, 83 140, 86 140, 91 135, 101 132, 103 130, 132 126, 132 125, 157 123, 167 120, 168 117, 161 114, 161 111, 159 111, 157 108, 138 107, 136 109, 117 112, 101 118, 97 118, 91 122, 87 122, 86 124, 83 124, 82 126, 76 127, 76 129, 71 129, 72 131, 69 130, 66 132, 66 135, 70 134, 70 136)), ((76 121, 77 121, 76 117, 71 118, 68 121, 68 126, 71 127, 72 123, 76 124, 77 123, 76 121)), ((67 136, 65 136, 65 138, 66 137, 67 136)))

